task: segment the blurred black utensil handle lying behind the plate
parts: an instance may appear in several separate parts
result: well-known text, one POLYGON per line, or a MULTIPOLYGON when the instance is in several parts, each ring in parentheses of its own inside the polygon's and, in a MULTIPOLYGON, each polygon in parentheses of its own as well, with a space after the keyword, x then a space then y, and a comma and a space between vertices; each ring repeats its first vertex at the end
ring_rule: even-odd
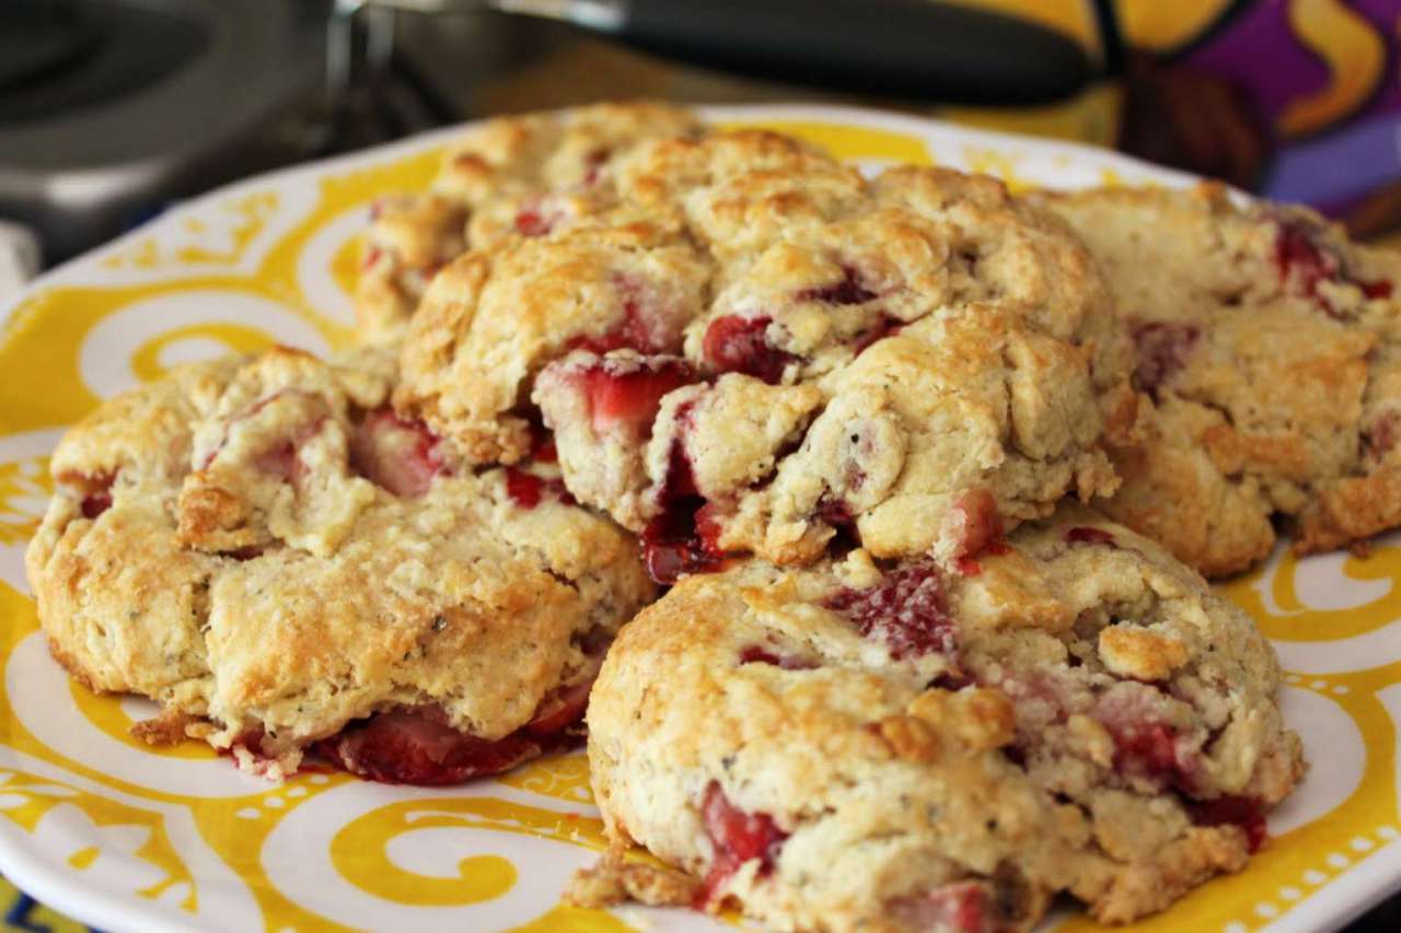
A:
POLYGON ((612 34, 706 67, 927 101, 1044 104, 1093 76, 1068 36, 937 0, 628 0, 612 34))

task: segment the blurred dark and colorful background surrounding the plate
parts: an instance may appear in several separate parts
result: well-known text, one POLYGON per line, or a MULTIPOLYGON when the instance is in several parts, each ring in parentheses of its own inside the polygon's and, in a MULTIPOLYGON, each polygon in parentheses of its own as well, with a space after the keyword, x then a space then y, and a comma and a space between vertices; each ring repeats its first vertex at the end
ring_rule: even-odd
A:
POLYGON ((639 95, 1073 139, 1394 237, 1398 27, 1401 0, 0 0, 0 301, 235 178, 639 95))

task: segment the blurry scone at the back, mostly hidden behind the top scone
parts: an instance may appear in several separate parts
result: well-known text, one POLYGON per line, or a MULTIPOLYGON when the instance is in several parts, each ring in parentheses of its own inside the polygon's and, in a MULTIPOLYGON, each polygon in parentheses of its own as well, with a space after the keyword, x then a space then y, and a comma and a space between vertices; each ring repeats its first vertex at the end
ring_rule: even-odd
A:
POLYGON ((677 106, 597 104, 488 120, 454 143, 432 189, 380 200, 356 286, 357 336, 392 340, 433 275, 468 245, 538 235, 612 205, 612 168, 644 139, 700 129, 677 106))

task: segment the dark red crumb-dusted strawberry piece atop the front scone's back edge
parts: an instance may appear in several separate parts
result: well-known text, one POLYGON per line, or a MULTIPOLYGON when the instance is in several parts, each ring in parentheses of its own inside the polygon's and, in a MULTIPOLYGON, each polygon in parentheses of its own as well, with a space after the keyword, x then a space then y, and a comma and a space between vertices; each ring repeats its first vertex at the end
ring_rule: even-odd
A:
POLYGON ((870 590, 838 590, 822 605, 846 616, 863 637, 883 639, 897 660, 930 651, 953 657, 957 650, 957 626, 933 565, 892 570, 870 590))

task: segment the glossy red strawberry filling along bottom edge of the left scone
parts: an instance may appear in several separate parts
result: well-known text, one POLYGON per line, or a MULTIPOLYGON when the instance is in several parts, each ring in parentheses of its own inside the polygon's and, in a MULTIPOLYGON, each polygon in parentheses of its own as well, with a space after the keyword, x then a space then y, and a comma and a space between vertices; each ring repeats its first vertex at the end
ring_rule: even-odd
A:
POLYGON ((497 775, 556 748, 579 744, 572 728, 584 716, 588 685, 570 688, 528 724, 497 740, 478 738, 447 723, 440 706, 399 707, 352 723, 315 751, 350 773, 394 785, 457 785, 497 775))

